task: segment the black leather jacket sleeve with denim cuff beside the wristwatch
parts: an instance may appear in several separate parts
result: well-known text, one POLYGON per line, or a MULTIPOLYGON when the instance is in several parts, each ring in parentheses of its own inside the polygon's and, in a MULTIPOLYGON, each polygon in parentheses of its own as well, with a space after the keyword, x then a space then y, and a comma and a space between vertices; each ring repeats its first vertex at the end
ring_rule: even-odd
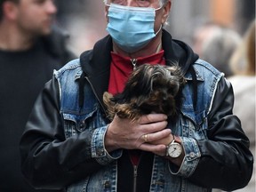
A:
POLYGON ((233 115, 234 94, 222 77, 207 116, 207 140, 181 138, 185 157, 172 173, 205 188, 244 188, 252 177, 253 156, 240 120, 233 115))

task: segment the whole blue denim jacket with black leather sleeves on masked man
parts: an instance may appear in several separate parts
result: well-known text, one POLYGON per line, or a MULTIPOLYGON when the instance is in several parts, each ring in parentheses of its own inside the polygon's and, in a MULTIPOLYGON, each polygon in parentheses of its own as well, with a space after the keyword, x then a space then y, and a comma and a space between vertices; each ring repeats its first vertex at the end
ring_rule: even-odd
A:
MULTIPOLYGON (((175 50, 181 43, 172 45, 172 39, 164 33, 166 57, 170 52, 178 55, 175 50), (172 51, 168 51, 170 45, 172 51)), ((108 90, 111 47, 106 46, 105 39, 93 48, 99 52, 84 52, 80 60, 54 71, 52 81, 45 84, 36 100, 20 140, 21 169, 35 188, 117 190, 117 161, 123 150, 108 153, 104 147, 109 121, 101 98, 108 90)), ((187 68, 182 92, 185 100, 179 120, 172 124, 172 133, 182 140, 184 160, 177 167, 166 158, 154 156, 150 191, 244 188, 252 176, 253 157, 240 121, 232 114, 232 87, 204 60, 194 60, 192 66, 196 87, 195 76, 187 68)))

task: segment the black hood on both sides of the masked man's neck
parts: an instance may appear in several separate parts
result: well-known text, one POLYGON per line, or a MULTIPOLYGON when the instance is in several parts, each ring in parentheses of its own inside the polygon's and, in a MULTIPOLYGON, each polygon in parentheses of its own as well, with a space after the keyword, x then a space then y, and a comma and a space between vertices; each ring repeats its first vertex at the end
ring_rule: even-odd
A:
MULTIPOLYGON (((178 61, 184 74, 188 70, 191 70, 193 73, 194 70, 192 68, 192 64, 198 59, 198 55, 192 51, 188 44, 178 40, 172 40, 172 36, 165 30, 163 30, 162 44, 166 65, 171 65, 172 61, 178 61)), ((112 52, 112 48, 112 38, 110 36, 106 36, 94 45, 92 51, 84 52, 80 56, 81 65, 84 71, 82 78, 80 78, 82 80, 82 82, 80 82, 80 87, 81 89, 84 87, 84 76, 87 76, 93 84, 101 104, 102 95, 108 90, 111 62, 110 52, 112 52), (102 49, 103 47, 104 49, 102 49)), ((84 93, 81 90, 80 98, 80 105, 82 107, 82 98, 84 98, 84 93)))

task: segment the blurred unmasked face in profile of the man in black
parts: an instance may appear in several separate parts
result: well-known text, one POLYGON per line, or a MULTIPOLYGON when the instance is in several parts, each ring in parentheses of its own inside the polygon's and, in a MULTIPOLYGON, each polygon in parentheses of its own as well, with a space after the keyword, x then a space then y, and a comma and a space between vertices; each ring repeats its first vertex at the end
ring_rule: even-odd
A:
POLYGON ((16 8, 17 27, 20 31, 31 36, 44 36, 51 32, 57 12, 53 0, 20 0, 16 8))

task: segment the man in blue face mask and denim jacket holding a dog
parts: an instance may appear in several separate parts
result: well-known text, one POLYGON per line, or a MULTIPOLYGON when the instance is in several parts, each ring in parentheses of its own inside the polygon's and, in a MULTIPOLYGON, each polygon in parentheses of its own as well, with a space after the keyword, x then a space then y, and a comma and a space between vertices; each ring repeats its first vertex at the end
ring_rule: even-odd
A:
POLYGON ((162 29, 172 1, 105 3, 110 36, 55 72, 36 101, 20 140, 25 177, 35 188, 68 191, 244 188, 253 159, 232 115, 232 88, 162 29), (103 92, 122 92, 143 63, 175 61, 187 79, 176 122, 156 113, 108 120, 103 92))

